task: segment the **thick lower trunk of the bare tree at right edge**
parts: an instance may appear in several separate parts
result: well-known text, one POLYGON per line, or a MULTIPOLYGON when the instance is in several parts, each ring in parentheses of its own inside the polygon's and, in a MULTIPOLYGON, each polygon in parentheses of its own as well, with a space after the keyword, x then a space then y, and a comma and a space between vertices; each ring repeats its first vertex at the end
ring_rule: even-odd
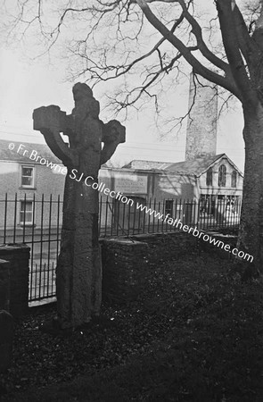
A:
MULTIPOLYGON (((242 214, 237 248, 245 255, 242 265, 253 275, 263 272, 263 107, 243 105, 245 168, 242 214)), ((242 255, 241 255, 242 256, 242 255)))

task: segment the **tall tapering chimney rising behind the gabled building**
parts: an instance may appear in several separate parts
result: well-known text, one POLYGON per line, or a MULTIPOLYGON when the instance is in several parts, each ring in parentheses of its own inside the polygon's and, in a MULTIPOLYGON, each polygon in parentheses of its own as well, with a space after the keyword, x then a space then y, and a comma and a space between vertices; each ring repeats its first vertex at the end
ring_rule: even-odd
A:
POLYGON ((193 81, 191 73, 185 161, 217 153, 218 96, 213 86, 200 75, 193 81))

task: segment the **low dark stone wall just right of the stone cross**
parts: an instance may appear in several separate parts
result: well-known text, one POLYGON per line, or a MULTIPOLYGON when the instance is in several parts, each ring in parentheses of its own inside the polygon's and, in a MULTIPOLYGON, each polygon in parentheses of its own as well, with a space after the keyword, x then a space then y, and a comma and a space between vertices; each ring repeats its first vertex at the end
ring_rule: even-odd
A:
POLYGON ((170 261, 196 248, 196 239, 184 232, 101 239, 100 243, 103 299, 119 303, 136 299, 144 290, 145 281, 148 281, 155 264, 170 261))

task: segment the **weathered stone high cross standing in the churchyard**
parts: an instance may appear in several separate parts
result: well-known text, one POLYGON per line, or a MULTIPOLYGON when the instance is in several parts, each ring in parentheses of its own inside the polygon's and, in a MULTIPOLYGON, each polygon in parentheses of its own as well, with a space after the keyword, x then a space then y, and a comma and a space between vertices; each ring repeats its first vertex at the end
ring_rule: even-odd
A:
POLYGON ((75 328, 99 314, 102 263, 98 241, 98 192, 84 180, 91 176, 97 181, 101 165, 111 158, 119 143, 125 142, 125 127, 119 121, 104 124, 99 119, 100 105, 91 88, 78 83, 73 87, 73 96, 75 107, 70 115, 55 105, 40 107, 33 113, 34 130, 41 131, 53 154, 68 168, 61 253, 56 268, 61 329, 75 328), (61 133, 69 137, 69 144, 63 141, 61 133), (81 180, 70 179, 72 169, 78 171, 78 178, 82 175, 81 180))

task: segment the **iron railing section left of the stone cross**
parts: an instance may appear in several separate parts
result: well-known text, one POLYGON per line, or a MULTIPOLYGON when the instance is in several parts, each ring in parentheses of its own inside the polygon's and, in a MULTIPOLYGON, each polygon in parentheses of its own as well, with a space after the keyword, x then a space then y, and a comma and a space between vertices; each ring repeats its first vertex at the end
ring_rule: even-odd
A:
POLYGON ((23 243, 30 247, 29 301, 55 296, 61 227, 61 197, 5 194, 0 199, 0 245, 23 243))

